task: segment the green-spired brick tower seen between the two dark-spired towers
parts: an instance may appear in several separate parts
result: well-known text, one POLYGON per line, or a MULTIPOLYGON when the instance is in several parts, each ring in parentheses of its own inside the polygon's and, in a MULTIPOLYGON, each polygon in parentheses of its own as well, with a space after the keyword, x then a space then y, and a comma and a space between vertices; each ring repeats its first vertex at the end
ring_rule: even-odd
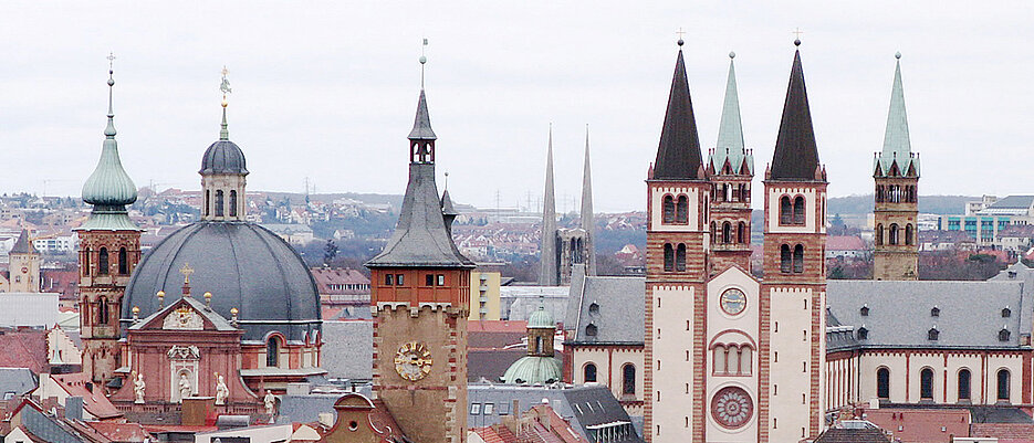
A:
POLYGON ((718 129, 718 144, 711 149, 708 176, 711 179, 711 259, 712 272, 729 265, 751 270, 751 180, 754 156, 744 147, 740 123, 737 74, 729 53, 729 80, 725 103, 718 129))

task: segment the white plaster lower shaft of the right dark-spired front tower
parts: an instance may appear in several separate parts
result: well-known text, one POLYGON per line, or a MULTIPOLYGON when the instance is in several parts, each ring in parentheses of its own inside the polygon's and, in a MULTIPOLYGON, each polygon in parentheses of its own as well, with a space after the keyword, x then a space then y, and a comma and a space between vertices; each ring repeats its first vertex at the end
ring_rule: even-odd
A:
MULTIPOLYGON (((767 291, 771 300, 769 441, 796 442, 801 440, 802 428, 805 434, 807 433, 811 414, 808 395, 812 386, 811 370, 813 370, 810 365, 813 339, 811 334, 812 289, 767 288, 767 291), (806 306, 805 300, 807 300, 806 306), (776 321, 779 323, 777 333, 776 321)), ((823 366, 819 365, 814 370, 821 371, 823 366)))

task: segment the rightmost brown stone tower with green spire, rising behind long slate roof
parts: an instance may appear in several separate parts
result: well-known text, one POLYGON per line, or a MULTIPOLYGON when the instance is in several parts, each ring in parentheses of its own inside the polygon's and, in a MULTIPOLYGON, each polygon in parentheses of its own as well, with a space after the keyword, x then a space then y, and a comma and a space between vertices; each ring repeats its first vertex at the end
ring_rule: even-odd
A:
POLYGON ((901 53, 894 70, 884 150, 876 154, 876 279, 919 279, 919 155, 912 152, 901 85, 901 53))

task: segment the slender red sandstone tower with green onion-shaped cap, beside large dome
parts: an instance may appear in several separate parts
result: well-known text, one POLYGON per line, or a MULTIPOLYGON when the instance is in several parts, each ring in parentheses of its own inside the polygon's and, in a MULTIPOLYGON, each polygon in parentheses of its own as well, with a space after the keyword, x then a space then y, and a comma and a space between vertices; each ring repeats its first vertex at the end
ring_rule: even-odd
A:
MULTIPOLYGON (((112 71, 108 74, 114 74, 112 71)), ((83 184, 83 201, 93 205, 80 228, 80 323, 83 372, 103 383, 122 367, 118 347, 122 298, 129 275, 140 261, 140 229, 129 220, 126 205, 136 201, 136 186, 118 158, 109 76, 107 127, 96 169, 83 184)))

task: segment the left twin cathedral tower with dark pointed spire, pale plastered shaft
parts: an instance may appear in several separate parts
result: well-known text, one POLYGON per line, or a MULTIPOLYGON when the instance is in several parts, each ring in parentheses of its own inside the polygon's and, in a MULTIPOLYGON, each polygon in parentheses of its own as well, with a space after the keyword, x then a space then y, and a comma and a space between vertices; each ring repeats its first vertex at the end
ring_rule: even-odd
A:
POLYGON ((644 435, 654 442, 702 441, 706 420, 704 380, 698 375, 706 365, 711 183, 701 161, 681 45, 679 40, 657 159, 646 181, 644 435), (685 359, 673 358, 683 354, 685 359))

